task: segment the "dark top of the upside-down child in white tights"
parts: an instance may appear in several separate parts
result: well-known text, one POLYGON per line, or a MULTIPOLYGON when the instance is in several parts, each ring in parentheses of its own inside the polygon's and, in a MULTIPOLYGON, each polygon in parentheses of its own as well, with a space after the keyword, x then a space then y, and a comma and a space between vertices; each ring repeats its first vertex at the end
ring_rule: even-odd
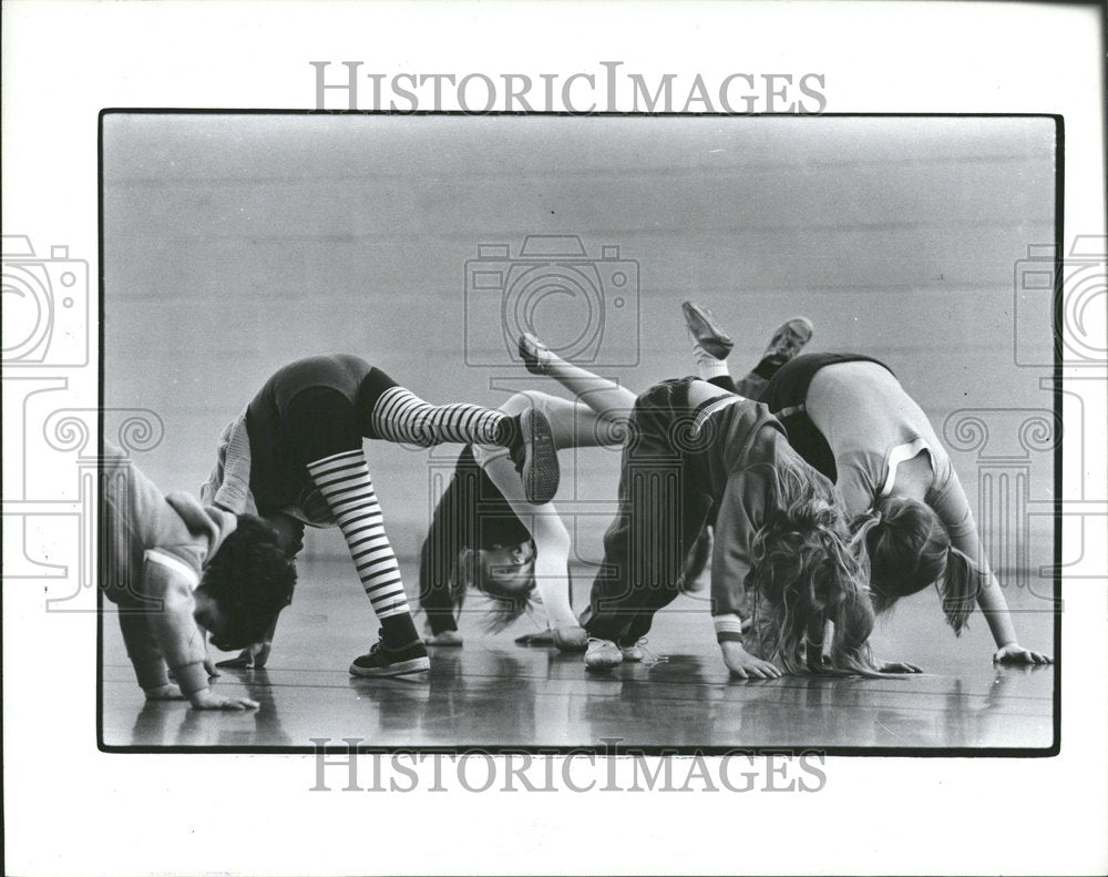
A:
POLYGON ((434 633, 458 630, 455 604, 461 602, 459 554, 463 549, 492 549, 531 541, 531 531, 516 517, 466 445, 453 478, 435 507, 420 551, 420 605, 434 633))

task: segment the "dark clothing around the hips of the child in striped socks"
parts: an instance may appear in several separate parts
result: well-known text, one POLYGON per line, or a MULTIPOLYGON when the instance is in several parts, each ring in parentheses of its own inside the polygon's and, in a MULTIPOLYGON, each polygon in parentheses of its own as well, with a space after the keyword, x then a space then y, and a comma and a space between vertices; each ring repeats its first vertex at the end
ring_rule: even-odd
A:
POLYGON ((246 409, 250 492, 258 511, 307 508, 315 490, 309 462, 377 438, 370 412, 389 387, 380 369, 347 354, 311 356, 279 369, 246 409))

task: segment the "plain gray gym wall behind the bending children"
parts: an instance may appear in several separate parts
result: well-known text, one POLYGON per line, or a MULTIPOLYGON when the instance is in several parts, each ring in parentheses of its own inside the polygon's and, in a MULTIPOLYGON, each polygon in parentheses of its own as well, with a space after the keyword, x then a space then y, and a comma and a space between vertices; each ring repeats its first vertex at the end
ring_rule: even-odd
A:
MULTIPOLYGON (((471 308, 489 333, 463 349, 466 261, 575 234, 589 256, 614 245, 638 264, 640 335, 612 316, 586 364, 636 390, 693 370, 679 309, 693 298, 736 337, 736 375, 804 314, 810 349, 884 359, 940 435, 955 409, 1049 409, 1049 369, 1014 355, 1018 316, 1022 357, 1049 363, 1048 295, 1015 314, 1013 276, 1054 238, 1054 135, 1043 119, 109 115, 105 405, 164 419, 140 463, 166 491, 197 490, 223 426, 300 356, 358 354, 431 401, 495 406, 490 379, 526 376, 496 346, 496 296, 471 308), (637 366, 604 367, 636 341, 637 366)), ((572 339, 578 305, 547 300, 540 332, 572 339)), ((367 450, 411 558, 427 453, 367 450)), ((1030 497, 1046 499, 1050 455, 1033 458, 1030 497)), ((976 510, 977 455, 953 459, 976 510)), ((617 473, 618 455, 596 450, 566 478, 604 500, 617 473)), ((607 517, 579 528, 584 555, 607 517)), ((1045 518, 1033 532, 1033 561, 1049 562, 1045 518)), ((308 550, 346 551, 334 532, 308 550)))

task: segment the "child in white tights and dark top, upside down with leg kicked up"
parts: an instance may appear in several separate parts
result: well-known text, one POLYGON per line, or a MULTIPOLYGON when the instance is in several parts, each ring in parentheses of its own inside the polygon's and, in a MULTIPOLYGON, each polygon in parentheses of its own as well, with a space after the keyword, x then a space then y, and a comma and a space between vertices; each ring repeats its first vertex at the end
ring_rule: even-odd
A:
MULTIPOLYGON (((763 356, 766 363, 779 366, 803 346, 790 335, 790 326, 774 333, 763 356)), ((520 339, 520 354, 532 374, 554 378, 577 400, 529 391, 513 396, 502 411, 542 410, 558 450, 623 445, 635 405, 630 390, 566 363, 531 335, 520 339)), ((505 455, 497 448, 464 448, 435 508, 420 555, 420 601, 430 628, 427 643, 462 644, 455 613, 471 585, 493 600, 488 630, 503 630, 533 610, 537 595, 550 636, 535 634, 519 642, 552 642, 563 651, 584 650, 584 631, 568 599, 570 534, 553 503, 535 507, 526 501, 505 455)), ((707 545, 705 539, 696 544, 694 553, 699 552, 699 557, 683 581, 691 581, 704 567, 707 545)), ((637 644, 623 654, 630 661, 643 656, 637 644)))

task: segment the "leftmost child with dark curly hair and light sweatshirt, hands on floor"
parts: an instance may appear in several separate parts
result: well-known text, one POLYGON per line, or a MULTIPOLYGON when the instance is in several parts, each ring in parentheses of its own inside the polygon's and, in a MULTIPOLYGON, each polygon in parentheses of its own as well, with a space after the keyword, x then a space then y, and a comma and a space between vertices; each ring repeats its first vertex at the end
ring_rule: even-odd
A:
POLYGON ((203 507, 187 493, 163 496, 110 443, 101 485, 100 588, 119 609, 147 700, 256 707, 208 687, 214 669, 203 630, 219 647, 242 649, 288 604, 296 571, 277 534, 255 516, 203 507))

